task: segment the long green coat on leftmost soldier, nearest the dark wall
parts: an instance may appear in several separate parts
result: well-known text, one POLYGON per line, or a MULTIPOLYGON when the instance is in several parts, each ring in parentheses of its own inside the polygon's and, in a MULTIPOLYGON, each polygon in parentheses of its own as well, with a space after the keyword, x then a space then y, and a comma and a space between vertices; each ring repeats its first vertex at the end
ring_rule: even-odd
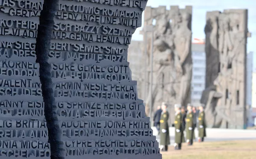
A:
POLYGON ((162 112, 160 118, 160 145, 170 145, 168 119, 169 113, 167 111, 162 112))

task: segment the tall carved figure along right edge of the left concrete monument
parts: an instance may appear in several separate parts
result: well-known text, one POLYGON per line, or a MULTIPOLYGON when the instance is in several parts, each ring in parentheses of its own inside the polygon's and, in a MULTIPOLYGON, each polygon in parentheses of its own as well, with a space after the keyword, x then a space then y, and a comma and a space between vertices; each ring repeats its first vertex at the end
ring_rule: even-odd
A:
MULTIPOLYGON (((179 89, 178 103, 187 104, 186 101, 190 94, 192 78, 192 58, 191 58, 191 36, 192 32, 188 28, 190 14, 177 14, 177 25, 174 27, 174 45, 176 54, 179 56, 177 61, 182 67, 181 84, 179 89)), ((175 61, 176 62, 176 61, 175 61)))

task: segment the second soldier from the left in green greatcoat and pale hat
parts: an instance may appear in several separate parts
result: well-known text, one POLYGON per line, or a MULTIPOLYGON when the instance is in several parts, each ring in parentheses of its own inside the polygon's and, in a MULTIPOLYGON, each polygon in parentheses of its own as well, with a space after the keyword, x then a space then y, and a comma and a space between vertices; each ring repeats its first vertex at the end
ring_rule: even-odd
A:
POLYGON ((175 121, 174 121, 174 127, 175 127, 175 143, 174 143, 174 149, 175 150, 181 150, 181 144, 185 141, 184 134, 183 134, 183 126, 182 126, 182 113, 180 111, 181 105, 175 104, 175 121))

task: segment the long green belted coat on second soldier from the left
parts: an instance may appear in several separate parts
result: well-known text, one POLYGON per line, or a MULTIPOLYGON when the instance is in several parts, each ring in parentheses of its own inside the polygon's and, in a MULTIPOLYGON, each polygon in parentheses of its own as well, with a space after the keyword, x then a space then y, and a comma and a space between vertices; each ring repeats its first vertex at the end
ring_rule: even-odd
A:
POLYGON ((183 133, 183 125, 182 125, 182 113, 176 113, 175 114, 175 121, 174 121, 174 127, 175 127, 175 143, 181 144, 185 141, 184 139, 184 133, 183 133), (177 132, 179 130, 179 132, 177 132))

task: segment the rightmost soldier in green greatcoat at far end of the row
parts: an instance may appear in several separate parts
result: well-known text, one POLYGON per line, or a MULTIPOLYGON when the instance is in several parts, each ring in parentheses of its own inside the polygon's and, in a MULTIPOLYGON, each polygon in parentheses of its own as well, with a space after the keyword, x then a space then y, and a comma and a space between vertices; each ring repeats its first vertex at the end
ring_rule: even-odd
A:
POLYGON ((203 142, 204 137, 206 137, 206 121, 204 114, 204 104, 200 104, 199 106, 199 114, 198 114, 198 142, 203 142))

